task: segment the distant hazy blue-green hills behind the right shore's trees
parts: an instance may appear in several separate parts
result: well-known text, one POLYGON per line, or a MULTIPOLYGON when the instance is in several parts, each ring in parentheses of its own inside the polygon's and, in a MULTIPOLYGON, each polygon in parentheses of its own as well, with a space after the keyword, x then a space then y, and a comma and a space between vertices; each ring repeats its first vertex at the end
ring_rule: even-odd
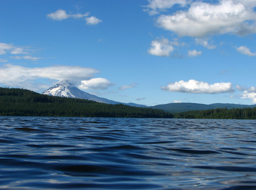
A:
POLYGON ((212 104, 201 104, 201 103, 168 103, 168 104, 159 104, 156 106, 151 106, 151 108, 156 108, 171 113, 179 113, 183 111, 190 110, 211 110, 216 108, 253 108, 254 105, 242 105, 242 104, 233 104, 233 103, 212 103, 212 104))

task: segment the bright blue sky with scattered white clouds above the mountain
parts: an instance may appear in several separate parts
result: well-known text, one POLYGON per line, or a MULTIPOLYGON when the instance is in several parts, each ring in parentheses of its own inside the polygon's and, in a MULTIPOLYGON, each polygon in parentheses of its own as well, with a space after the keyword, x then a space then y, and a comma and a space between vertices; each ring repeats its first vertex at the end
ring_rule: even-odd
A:
POLYGON ((256 0, 0 0, 0 86, 256 104, 256 0))

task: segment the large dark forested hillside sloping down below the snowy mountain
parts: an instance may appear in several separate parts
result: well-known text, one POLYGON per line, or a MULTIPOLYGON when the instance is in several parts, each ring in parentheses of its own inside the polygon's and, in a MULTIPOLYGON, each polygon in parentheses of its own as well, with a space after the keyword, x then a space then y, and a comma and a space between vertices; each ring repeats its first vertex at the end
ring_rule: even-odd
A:
POLYGON ((9 87, 0 87, 0 116, 173 117, 171 113, 163 110, 42 95, 30 90, 9 87))

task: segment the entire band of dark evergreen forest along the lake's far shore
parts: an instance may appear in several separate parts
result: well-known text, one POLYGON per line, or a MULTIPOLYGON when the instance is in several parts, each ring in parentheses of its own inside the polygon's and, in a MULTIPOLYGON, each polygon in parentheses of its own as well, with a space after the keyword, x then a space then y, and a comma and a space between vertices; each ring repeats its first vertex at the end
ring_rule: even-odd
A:
POLYGON ((169 113, 156 108, 99 103, 86 99, 42 95, 20 88, 0 87, 0 116, 256 119, 256 107, 169 113))

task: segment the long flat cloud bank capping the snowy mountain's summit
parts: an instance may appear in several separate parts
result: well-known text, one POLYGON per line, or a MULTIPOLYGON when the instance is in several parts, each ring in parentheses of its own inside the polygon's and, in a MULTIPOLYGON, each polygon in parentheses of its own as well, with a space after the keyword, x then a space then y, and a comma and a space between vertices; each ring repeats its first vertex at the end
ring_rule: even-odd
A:
MULTIPOLYGON (((41 89, 39 79, 69 80, 76 85, 81 80, 92 79, 100 71, 80 66, 56 65, 50 67, 23 67, 20 65, 5 64, 0 67, 0 83, 10 87, 25 87, 31 90, 41 89), (36 82, 36 83, 35 83, 36 82)), ((49 87, 49 86, 48 86, 49 87)))

